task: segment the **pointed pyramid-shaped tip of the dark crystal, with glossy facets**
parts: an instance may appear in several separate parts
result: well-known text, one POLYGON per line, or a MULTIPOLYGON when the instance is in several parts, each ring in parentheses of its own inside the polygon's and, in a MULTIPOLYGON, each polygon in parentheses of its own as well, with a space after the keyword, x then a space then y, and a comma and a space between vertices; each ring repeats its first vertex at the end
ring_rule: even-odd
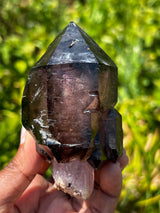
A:
POLYGON ((75 23, 70 23, 49 45, 46 53, 34 65, 65 63, 102 63, 116 67, 112 59, 75 23))

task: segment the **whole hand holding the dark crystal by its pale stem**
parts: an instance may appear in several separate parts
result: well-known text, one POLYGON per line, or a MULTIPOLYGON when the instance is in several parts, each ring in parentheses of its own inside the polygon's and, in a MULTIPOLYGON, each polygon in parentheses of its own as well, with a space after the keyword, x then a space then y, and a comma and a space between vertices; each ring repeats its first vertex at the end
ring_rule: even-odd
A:
POLYGON ((121 191, 121 170, 127 163, 125 152, 117 163, 103 162, 95 172, 91 197, 86 201, 70 198, 42 176, 50 165, 25 132, 25 142, 0 171, 0 213, 113 213, 121 191))

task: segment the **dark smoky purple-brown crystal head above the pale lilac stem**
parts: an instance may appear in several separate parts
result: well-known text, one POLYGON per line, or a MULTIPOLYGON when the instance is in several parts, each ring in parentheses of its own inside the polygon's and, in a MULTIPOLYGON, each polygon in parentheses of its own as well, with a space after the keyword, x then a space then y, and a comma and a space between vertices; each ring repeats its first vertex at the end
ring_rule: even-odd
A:
POLYGON ((116 102, 116 65, 71 22, 29 72, 22 124, 48 160, 99 162, 105 155, 115 162, 123 151, 116 102))

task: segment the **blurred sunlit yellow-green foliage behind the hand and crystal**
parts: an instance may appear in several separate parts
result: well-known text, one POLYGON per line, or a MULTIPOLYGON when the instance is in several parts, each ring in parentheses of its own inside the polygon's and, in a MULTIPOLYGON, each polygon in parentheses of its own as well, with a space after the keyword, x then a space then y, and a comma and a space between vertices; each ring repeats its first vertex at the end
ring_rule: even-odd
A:
POLYGON ((0 0, 0 169, 15 155, 30 68, 76 22, 119 69, 129 165, 117 213, 160 212, 160 1, 0 0))

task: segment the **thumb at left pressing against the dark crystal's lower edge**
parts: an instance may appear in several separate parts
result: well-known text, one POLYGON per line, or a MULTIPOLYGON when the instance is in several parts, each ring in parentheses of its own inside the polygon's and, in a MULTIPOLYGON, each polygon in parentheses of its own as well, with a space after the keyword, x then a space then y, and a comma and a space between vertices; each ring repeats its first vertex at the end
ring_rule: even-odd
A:
POLYGON ((25 131, 25 141, 16 156, 0 171, 0 212, 6 212, 21 196, 37 173, 49 164, 37 153, 33 137, 25 131))

